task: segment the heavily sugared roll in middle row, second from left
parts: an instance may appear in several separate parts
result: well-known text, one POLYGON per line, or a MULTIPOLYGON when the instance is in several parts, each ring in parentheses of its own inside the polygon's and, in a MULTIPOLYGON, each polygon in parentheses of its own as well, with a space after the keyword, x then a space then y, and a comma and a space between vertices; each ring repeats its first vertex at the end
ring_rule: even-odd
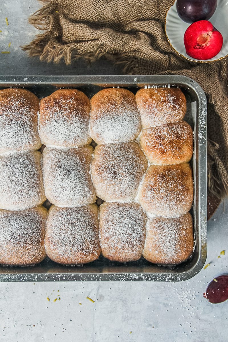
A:
POLYGON ((96 201, 90 176, 92 153, 92 146, 44 148, 44 190, 51 203, 59 207, 76 207, 96 201))

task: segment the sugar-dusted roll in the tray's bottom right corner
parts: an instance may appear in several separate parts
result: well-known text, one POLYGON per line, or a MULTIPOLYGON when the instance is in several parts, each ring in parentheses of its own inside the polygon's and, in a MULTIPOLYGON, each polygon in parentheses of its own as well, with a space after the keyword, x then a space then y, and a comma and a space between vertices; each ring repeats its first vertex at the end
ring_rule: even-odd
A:
POLYGON ((143 257, 160 265, 175 265, 187 260, 194 247, 192 217, 148 219, 143 257))

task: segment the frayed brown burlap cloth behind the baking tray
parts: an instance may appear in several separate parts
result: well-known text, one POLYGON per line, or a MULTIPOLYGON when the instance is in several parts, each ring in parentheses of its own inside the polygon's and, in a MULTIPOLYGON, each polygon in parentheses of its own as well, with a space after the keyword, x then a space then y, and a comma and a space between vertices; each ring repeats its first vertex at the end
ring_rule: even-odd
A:
POLYGON ((193 63, 167 42, 165 15, 173 0, 45 0, 29 22, 44 32, 24 50, 58 63, 101 56, 121 63, 128 74, 176 74, 196 80, 208 100, 208 186, 228 194, 227 58, 193 63))

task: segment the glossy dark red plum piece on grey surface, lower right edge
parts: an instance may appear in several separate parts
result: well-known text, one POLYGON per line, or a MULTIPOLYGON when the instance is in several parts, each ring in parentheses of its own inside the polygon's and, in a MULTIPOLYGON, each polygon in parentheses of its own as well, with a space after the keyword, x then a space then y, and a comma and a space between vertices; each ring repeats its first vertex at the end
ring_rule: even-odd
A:
POLYGON ((213 304, 225 302, 228 299, 228 275, 214 278, 207 286, 203 297, 213 304))

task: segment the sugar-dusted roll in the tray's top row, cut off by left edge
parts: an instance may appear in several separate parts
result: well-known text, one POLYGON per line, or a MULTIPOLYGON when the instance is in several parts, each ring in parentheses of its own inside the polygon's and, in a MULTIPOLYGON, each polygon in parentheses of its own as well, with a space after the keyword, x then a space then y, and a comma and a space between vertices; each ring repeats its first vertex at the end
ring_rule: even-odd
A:
POLYGON ((26 89, 0 90, 0 153, 41 147, 39 99, 26 89))

